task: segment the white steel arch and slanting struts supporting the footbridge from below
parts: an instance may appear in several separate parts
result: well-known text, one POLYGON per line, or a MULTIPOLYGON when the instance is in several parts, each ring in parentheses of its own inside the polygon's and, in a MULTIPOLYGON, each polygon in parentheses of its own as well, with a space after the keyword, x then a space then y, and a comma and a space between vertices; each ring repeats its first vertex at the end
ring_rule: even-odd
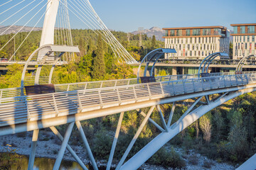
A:
MULTIPOLYGON (((191 125, 193 122, 198 120, 201 116, 203 116, 208 111, 212 110, 213 108, 220 106, 222 103, 225 103, 226 101, 230 100, 231 98, 235 98, 237 96, 240 96, 245 93, 249 93, 252 91, 255 91, 256 87, 249 87, 247 89, 241 89, 238 91, 227 91, 223 93, 216 93, 213 94, 214 96, 208 95, 208 99, 203 98, 203 96, 206 96, 205 94, 201 94, 201 96, 193 97, 191 100, 194 102, 191 103, 191 105, 188 107, 187 111, 181 115, 181 117, 173 123, 173 115, 175 114, 175 108, 176 103, 178 100, 172 102, 172 107, 169 116, 166 116, 167 118, 164 118, 164 115, 161 111, 161 106, 159 104, 156 104, 154 106, 151 106, 149 111, 147 113, 144 113, 142 111, 142 108, 135 109, 142 117, 144 118, 142 120, 141 125, 139 125, 139 128, 137 129, 137 132, 135 133, 132 141, 129 143, 129 146, 127 147, 126 151, 124 152, 122 158, 119 160, 119 163, 115 167, 117 170, 119 169, 138 169, 139 166, 144 164, 147 159, 149 159, 155 152, 157 152, 161 147, 163 147, 166 142, 169 142, 173 137, 175 137, 179 132, 187 128, 189 125, 191 125), (159 118, 161 120, 161 125, 157 124, 154 120, 150 118, 151 113, 154 111, 154 108, 156 108, 156 111, 159 113, 159 118), (137 154, 135 154, 131 159, 127 160, 127 155, 131 151, 132 147, 134 146, 134 143, 137 141, 139 134, 142 132, 144 126, 149 121, 149 123, 152 123, 157 129, 159 129, 160 134, 157 135, 151 142, 149 142, 146 146, 144 146, 137 154), (127 162, 125 162, 127 160, 127 162)), ((181 98, 182 99, 182 98, 181 98)), ((169 102, 165 102, 169 103, 169 102)), ((162 103, 163 104, 163 103, 162 103)), ((117 124, 117 129, 114 135, 114 139, 112 142, 112 149, 110 151, 110 157, 107 162, 107 170, 109 170, 112 167, 112 160, 114 157, 114 151, 117 147, 117 141, 119 138, 119 132, 122 126, 122 120, 124 117, 124 112, 120 113, 119 120, 117 124)), ((90 149, 90 146, 87 142, 87 138, 85 137, 85 133, 82 130, 82 126, 80 124, 80 121, 73 121, 69 123, 68 128, 65 132, 65 136, 62 137, 58 130, 55 127, 50 127, 50 130, 53 131, 53 133, 62 141, 62 145, 60 147, 60 150, 58 152, 58 157, 55 161, 55 165, 53 169, 59 169, 60 162, 63 159, 63 154, 65 152, 65 149, 68 149, 70 154, 75 158, 76 162, 80 164, 82 169, 87 169, 85 164, 82 163, 80 158, 77 154, 73 151, 73 149, 68 145, 68 140, 70 138, 71 132, 73 130, 73 126, 76 125, 80 136, 82 138, 82 142, 85 145, 86 152, 88 154, 88 157, 90 159, 90 162, 93 166, 93 169, 97 169, 97 164, 95 162, 95 158, 93 157, 92 151, 90 149)), ((33 130, 33 137, 32 137, 32 145, 31 145, 31 155, 29 158, 28 163, 28 169, 33 169, 33 162, 35 158, 35 152, 36 152, 36 142, 38 140, 38 132, 39 130, 33 130)))

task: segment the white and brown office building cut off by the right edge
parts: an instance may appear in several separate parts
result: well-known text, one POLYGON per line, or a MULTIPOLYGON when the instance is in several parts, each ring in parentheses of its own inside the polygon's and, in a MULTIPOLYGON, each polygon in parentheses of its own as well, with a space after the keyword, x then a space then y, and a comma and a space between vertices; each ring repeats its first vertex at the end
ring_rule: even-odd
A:
POLYGON ((233 59, 256 55, 256 23, 231 24, 233 26, 233 59))

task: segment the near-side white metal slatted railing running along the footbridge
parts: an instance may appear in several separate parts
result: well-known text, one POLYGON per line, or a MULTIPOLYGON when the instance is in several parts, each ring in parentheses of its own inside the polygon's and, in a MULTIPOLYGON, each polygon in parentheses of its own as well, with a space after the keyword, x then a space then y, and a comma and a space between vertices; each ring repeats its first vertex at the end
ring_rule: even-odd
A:
POLYGON ((0 126, 255 82, 256 74, 236 74, 1 98, 0 126))

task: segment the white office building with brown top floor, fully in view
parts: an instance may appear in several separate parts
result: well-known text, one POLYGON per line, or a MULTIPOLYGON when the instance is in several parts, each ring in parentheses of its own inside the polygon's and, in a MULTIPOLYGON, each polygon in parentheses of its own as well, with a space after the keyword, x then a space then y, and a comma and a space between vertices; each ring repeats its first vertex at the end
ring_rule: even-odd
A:
POLYGON ((203 26, 185 28, 163 28, 166 34, 166 48, 174 48, 176 54, 166 54, 165 58, 201 59, 213 52, 229 54, 230 31, 223 26, 203 26))

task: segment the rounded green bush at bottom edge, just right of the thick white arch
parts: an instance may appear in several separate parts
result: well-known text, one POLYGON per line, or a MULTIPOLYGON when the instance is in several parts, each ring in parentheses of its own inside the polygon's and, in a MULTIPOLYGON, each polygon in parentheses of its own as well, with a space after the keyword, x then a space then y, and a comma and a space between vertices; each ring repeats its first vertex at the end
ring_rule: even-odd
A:
POLYGON ((171 167, 174 169, 182 169, 186 166, 186 163, 181 158, 181 155, 175 152, 173 147, 171 148, 170 152, 167 152, 164 148, 159 149, 159 151, 149 159, 149 163, 164 167, 171 167))

